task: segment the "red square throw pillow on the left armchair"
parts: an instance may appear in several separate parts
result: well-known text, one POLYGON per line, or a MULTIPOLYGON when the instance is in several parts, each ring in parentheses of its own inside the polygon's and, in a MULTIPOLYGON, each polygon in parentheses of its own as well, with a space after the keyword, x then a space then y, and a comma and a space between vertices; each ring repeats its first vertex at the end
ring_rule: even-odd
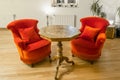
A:
POLYGON ((19 33, 21 38, 28 44, 39 41, 41 39, 33 27, 21 28, 19 29, 19 33))

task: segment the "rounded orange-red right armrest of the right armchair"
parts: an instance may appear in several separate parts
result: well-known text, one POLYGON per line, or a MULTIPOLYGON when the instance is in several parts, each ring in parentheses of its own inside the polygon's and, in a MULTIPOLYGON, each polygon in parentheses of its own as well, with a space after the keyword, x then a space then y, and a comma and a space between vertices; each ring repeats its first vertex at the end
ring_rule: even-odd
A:
POLYGON ((105 40, 106 40, 106 35, 105 35, 105 33, 100 33, 100 34, 98 34, 98 36, 97 36, 95 45, 96 45, 96 46, 103 45, 104 42, 105 42, 105 40))

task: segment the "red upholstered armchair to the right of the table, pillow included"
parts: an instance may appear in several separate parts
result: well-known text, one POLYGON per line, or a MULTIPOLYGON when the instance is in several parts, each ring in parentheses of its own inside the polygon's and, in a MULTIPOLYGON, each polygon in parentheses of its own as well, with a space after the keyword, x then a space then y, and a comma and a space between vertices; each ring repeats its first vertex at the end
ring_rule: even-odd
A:
POLYGON ((80 22, 81 34, 71 41, 71 51, 73 55, 93 62, 101 55, 106 40, 105 31, 109 22, 93 16, 82 18, 80 22))

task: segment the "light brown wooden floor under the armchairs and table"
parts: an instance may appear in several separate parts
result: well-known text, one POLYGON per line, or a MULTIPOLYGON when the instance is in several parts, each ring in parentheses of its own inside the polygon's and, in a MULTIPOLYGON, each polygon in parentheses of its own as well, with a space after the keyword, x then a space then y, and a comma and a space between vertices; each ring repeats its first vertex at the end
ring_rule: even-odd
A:
MULTIPOLYGON (((100 59, 91 65, 77 57, 72 58, 69 42, 63 42, 64 55, 74 60, 75 65, 63 63, 59 80, 120 80, 120 39, 107 39, 100 59)), ((57 52, 52 43, 52 56, 57 52)), ((24 64, 13 43, 11 32, 0 30, 0 80, 54 80, 56 62, 48 59, 34 68, 24 64)))

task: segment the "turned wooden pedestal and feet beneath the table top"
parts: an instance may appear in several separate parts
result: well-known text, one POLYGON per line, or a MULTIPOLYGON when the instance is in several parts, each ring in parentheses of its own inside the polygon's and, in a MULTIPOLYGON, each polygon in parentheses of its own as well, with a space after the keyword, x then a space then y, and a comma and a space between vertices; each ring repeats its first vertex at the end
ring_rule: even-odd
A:
POLYGON ((57 61, 57 67, 56 67, 56 73, 55 73, 55 80, 58 80, 57 75, 58 75, 58 71, 59 71, 59 66, 61 65, 61 63, 65 60, 67 63, 71 63, 72 65, 74 65, 73 61, 69 61, 68 57, 63 56, 62 51, 62 42, 58 41, 58 61, 57 61))

